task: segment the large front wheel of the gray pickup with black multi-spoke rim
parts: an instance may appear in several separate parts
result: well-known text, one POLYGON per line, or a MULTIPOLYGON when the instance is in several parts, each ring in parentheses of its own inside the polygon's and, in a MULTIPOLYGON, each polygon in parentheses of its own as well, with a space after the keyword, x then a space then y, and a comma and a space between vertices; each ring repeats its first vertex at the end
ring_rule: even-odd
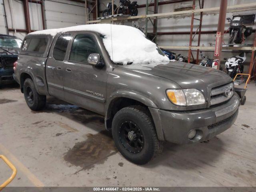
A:
POLYGON ((129 106, 118 111, 112 121, 112 135, 120 153, 135 164, 146 164, 162 152, 162 142, 145 107, 129 106), (134 141, 129 139, 132 131, 134 141))

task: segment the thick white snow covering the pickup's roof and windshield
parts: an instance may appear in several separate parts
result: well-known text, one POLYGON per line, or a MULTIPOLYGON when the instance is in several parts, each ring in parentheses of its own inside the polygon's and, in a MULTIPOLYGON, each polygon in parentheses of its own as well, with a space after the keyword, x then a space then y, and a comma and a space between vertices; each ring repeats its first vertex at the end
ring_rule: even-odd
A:
POLYGON ((115 63, 160 64, 167 63, 167 56, 158 53, 157 46, 145 38, 145 34, 137 28, 125 25, 90 24, 67 28, 47 29, 30 34, 50 34, 55 36, 59 32, 94 31, 104 35, 103 43, 115 63))

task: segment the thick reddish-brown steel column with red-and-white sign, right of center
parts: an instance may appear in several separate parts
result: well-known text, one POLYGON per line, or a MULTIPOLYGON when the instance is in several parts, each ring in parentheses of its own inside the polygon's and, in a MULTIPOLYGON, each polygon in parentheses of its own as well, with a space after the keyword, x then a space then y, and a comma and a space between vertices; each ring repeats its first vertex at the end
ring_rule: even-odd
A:
POLYGON ((224 37, 224 28, 225 28, 225 22, 226 22, 226 13, 227 13, 227 6, 228 6, 228 0, 221 0, 220 2, 220 14, 219 14, 219 21, 218 21, 218 29, 217 32, 221 32, 220 37, 220 54, 219 56, 215 56, 215 59, 218 59, 218 69, 220 69, 220 59, 221 59, 221 52, 222 52, 222 43, 223 43, 223 37, 224 37))

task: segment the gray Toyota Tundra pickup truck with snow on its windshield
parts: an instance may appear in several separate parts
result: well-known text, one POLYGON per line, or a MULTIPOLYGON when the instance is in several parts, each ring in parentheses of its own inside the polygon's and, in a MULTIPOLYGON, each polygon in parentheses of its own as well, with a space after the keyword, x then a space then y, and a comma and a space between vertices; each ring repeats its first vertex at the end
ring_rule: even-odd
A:
POLYGON ((43 109, 50 95, 103 115, 120 153, 136 164, 159 154, 163 141, 203 142, 236 120, 240 103, 224 72, 182 62, 114 62, 108 36, 91 28, 25 37, 14 78, 31 110, 43 109))

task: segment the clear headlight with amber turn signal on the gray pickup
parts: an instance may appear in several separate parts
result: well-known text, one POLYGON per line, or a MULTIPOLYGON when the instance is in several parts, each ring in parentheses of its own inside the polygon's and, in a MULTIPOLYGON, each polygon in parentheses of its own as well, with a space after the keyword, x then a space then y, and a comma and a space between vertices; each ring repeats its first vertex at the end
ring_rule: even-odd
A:
POLYGON ((205 104, 204 95, 197 89, 168 89, 166 95, 178 106, 192 106, 205 104))

